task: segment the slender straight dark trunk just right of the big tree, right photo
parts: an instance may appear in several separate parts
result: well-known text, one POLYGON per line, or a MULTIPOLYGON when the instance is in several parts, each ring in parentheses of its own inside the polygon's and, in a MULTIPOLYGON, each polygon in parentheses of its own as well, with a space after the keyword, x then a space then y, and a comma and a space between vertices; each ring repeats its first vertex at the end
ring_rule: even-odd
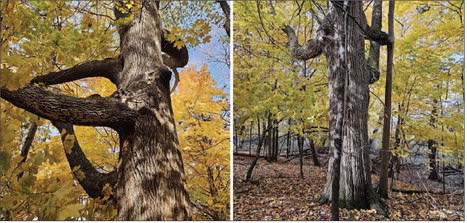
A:
MULTIPOLYGON (((394 1, 389 2, 388 27, 389 36, 394 38, 394 1)), ((381 175, 379 178, 379 194, 382 198, 388 198, 388 164, 390 157, 390 134, 391 134, 391 94, 392 94, 392 60, 394 43, 387 46, 387 68, 386 68, 386 89, 384 93, 384 125, 381 151, 381 175)))

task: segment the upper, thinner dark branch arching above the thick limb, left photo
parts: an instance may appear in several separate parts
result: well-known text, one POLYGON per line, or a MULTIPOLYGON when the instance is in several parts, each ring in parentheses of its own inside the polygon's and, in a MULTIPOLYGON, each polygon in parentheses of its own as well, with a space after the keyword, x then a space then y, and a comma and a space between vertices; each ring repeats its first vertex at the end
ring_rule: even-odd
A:
POLYGON ((93 60, 72 68, 51 72, 32 79, 31 83, 44 83, 45 85, 61 84, 86 77, 106 77, 116 84, 117 74, 122 70, 121 60, 118 58, 106 58, 93 60))

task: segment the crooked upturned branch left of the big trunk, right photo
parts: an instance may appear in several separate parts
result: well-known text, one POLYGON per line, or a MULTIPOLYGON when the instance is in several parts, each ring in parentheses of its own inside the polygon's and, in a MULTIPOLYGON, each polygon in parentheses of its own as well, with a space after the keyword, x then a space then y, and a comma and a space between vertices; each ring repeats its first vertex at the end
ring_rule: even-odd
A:
POLYGON ((282 30, 287 34, 289 39, 289 50, 292 53, 292 57, 295 59, 308 60, 323 53, 323 43, 321 38, 318 37, 318 39, 308 40, 306 46, 302 47, 298 44, 297 35, 292 27, 285 26, 282 30))

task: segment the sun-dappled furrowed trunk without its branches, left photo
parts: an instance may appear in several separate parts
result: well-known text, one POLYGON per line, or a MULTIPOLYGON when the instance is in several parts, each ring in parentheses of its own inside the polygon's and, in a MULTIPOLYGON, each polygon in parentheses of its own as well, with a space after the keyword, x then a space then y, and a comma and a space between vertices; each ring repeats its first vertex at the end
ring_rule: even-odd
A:
MULTIPOLYGON (((191 219, 157 4, 145 1, 118 27, 124 68, 116 98, 137 113, 134 128, 119 131, 119 220, 191 219)), ((118 9, 115 15, 128 16, 118 9)))

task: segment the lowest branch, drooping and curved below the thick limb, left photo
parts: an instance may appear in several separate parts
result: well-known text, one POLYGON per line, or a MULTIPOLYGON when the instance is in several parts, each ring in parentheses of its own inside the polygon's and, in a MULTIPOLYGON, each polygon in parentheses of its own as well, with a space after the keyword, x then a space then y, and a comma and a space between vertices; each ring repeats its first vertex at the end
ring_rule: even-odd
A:
MULTIPOLYGON (((92 197, 104 197, 102 193, 106 184, 113 189, 117 182, 117 171, 113 170, 109 173, 100 173, 86 158, 83 150, 79 146, 78 139, 75 136, 73 126, 67 123, 52 122, 52 124, 58 129, 61 134, 63 148, 65 149, 65 155, 68 160, 68 164, 75 175, 75 178, 79 181, 84 191, 92 197), (84 177, 78 174, 76 168, 84 173, 84 177)), ((111 196, 110 199, 113 199, 111 196)))

